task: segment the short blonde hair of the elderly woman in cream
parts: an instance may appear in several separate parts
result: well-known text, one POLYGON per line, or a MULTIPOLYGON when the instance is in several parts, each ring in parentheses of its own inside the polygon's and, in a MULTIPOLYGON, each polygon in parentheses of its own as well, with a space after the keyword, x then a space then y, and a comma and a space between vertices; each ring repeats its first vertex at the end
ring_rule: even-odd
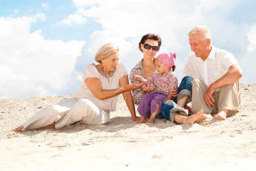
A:
POLYGON ((94 56, 94 60, 98 63, 102 63, 101 60, 108 58, 113 53, 119 52, 119 47, 117 47, 114 43, 107 43, 104 44, 102 47, 99 48, 97 53, 94 56))

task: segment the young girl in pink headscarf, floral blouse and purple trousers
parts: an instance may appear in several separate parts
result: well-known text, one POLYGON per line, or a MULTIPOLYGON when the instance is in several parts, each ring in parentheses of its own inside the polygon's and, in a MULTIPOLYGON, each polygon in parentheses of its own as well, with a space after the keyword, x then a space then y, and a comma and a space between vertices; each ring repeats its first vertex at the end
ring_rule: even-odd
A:
POLYGON ((162 108, 162 102, 175 99, 169 93, 170 89, 175 89, 178 84, 175 70, 174 58, 175 53, 160 53, 155 59, 155 65, 157 72, 147 80, 139 75, 135 76, 136 80, 143 82, 144 84, 155 84, 156 91, 154 93, 147 93, 142 96, 139 106, 137 108, 141 115, 138 124, 146 122, 146 116, 151 113, 151 116, 147 123, 155 123, 155 117, 160 113, 162 108))

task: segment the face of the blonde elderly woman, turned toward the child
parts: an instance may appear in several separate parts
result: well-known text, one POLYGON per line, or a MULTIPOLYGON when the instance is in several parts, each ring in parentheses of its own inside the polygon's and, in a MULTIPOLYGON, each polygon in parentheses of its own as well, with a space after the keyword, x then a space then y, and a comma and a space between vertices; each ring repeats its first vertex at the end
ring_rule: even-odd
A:
POLYGON ((111 71, 115 71, 119 60, 119 53, 113 53, 108 58, 101 60, 103 71, 105 73, 110 73, 111 71))

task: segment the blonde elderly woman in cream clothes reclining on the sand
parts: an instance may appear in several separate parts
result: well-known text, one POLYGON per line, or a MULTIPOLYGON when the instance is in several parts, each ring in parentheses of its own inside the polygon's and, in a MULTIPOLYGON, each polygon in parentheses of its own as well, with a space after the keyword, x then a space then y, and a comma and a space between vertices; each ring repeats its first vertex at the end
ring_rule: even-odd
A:
POLYGON ((132 90, 141 84, 129 84, 128 74, 119 60, 119 47, 116 44, 104 44, 94 56, 99 64, 88 64, 83 72, 80 89, 72 98, 58 104, 49 105, 33 115, 24 124, 12 131, 28 129, 49 129, 80 122, 97 125, 110 122, 110 111, 115 111, 119 94, 123 94, 132 120, 137 121, 132 90))

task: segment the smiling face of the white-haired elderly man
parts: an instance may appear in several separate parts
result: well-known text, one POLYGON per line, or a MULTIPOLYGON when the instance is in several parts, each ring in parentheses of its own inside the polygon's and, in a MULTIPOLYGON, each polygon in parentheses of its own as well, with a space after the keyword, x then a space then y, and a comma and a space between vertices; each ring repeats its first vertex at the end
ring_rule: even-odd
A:
POLYGON ((210 39, 207 39, 206 41, 202 40, 199 35, 189 37, 191 51, 194 51, 195 56, 202 58, 202 60, 206 60, 211 52, 210 42, 210 39))

